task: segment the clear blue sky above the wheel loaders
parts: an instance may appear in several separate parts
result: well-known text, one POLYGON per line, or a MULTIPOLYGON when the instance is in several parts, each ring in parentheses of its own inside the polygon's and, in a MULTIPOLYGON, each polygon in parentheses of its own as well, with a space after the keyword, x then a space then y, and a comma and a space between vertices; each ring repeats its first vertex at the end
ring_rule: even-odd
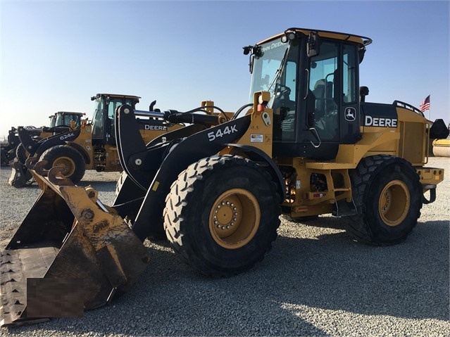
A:
MULTIPOLYGON (((449 1, 4 1, 0 136, 59 110, 92 115, 99 92, 190 110, 248 103, 242 46, 288 27, 373 39, 361 64, 367 101, 419 106, 449 122, 449 1)), ((428 112, 426 113, 428 117, 428 112)))

